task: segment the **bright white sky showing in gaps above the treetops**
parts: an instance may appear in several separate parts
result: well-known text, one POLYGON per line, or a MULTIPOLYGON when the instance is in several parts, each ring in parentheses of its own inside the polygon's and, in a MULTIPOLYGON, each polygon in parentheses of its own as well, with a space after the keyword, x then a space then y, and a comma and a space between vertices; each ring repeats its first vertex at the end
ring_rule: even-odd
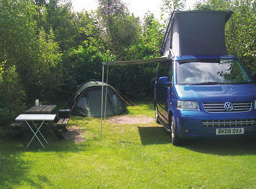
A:
MULTIPOLYGON (((83 9, 87 11, 96 10, 98 3, 97 0, 71 0, 73 4, 74 11, 82 11, 83 9)), ((150 11, 154 16, 160 20, 160 8, 162 5, 162 0, 122 0, 128 7, 131 13, 134 13, 136 17, 140 17, 143 20, 144 14, 150 11)), ((186 0, 186 9, 189 10, 193 8, 193 4, 196 0, 186 0)))

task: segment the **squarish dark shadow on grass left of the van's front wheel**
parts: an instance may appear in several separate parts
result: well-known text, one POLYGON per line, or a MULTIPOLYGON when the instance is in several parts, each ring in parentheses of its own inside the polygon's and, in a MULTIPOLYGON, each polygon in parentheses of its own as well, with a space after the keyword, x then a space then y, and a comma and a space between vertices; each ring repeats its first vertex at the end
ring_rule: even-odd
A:
POLYGON ((142 145, 166 144, 171 142, 170 133, 163 127, 138 127, 142 145))

